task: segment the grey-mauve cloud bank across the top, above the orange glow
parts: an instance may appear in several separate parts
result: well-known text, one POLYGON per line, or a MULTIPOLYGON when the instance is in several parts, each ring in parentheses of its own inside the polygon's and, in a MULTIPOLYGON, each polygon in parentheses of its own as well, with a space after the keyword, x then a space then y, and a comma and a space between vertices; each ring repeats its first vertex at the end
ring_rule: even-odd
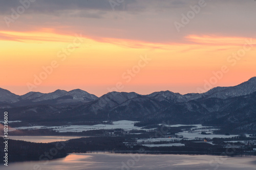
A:
MULTIPOLYGON (((21 0, 28 1, 28 0, 21 0)), ((117 0, 113 0, 117 2, 117 0)), ((109 0, 36 0, 11 27, 0 21, 0 30, 36 31, 52 28, 64 34, 127 39, 148 43, 197 43, 189 35, 254 38, 256 3, 209 1, 178 33, 174 22, 199 0, 120 0, 113 11, 109 0), (2 23, 3 24, 2 24, 2 23)), ((0 15, 10 16, 19 0, 0 1, 0 15)), ((3 18, 3 17, 2 17, 3 18)))

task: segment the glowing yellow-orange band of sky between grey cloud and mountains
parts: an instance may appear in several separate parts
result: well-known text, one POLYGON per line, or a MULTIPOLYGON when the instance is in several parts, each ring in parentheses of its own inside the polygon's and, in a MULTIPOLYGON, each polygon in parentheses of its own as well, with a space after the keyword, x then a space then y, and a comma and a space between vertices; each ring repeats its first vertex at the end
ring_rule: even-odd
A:
MULTIPOLYGON (((139 41, 127 42, 125 39, 96 41, 83 36, 83 42, 76 46, 73 52, 67 52, 70 55, 66 55, 61 50, 73 44, 73 35, 60 35, 54 32, 0 33, 7 37, 15 36, 18 40, 0 41, 3 47, 0 69, 1 77, 5 80, 1 82, 2 87, 8 87, 19 94, 29 90, 28 87, 24 88, 28 83, 35 85, 31 86, 32 91, 81 88, 91 89, 90 91, 98 95, 108 92, 106 88, 116 87, 117 82, 123 84, 119 91, 195 92, 196 87, 201 88, 205 79, 214 76, 212 71, 221 70, 222 65, 226 65, 229 72, 223 74, 217 85, 236 85, 246 81, 254 76, 251 70, 254 70, 253 63, 256 62, 254 50, 246 52, 240 60, 232 58, 237 60, 234 66, 234 61, 227 61, 233 52, 243 49, 246 37, 190 35, 187 39, 198 44, 150 44, 139 41), (58 55, 59 51, 60 55, 66 57, 58 55), (148 58, 148 61, 143 61, 141 56, 148 58), (57 62, 56 68, 51 66, 52 61, 57 62), (42 67, 52 71, 47 73, 42 67), (34 75, 39 77, 41 72, 47 73, 47 78, 42 76, 45 80, 41 79, 41 83, 37 85, 34 83, 34 75), (191 88, 184 88, 187 83, 191 88), (141 89, 141 86, 145 88, 141 89)), ((246 47, 251 48, 250 45, 246 47)))

